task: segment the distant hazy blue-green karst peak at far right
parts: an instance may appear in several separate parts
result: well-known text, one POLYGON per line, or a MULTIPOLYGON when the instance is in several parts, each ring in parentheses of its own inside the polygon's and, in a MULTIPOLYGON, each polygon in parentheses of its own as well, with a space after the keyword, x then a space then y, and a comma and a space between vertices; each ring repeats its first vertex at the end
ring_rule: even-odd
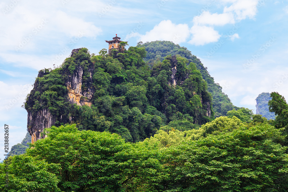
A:
POLYGON ((266 117, 268 120, 275 119, 275 114, 272 112, 269 112, 269 106, 268 102, 272 98, 270 97, 270 93, 261 93, 258 95, 256 100, 256 109, 257 109, 257 115, 262 115, 263 117, 266 117))

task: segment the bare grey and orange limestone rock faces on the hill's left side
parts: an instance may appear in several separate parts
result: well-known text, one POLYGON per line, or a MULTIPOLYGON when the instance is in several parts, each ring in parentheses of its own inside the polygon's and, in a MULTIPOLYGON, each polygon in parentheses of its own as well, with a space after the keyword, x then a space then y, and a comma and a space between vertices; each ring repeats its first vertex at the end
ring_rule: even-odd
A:
MULTIPOLYGON (((71 55, 73 55, 75 52, 77 53, 77 50, 73 50, 71 55)), ((83 84, 89 84, 92 82, 92 72, 93 67, 88 69, 90 73, 90 78, 83 81, 83 68, 81 66, 77 66, 74 70, 74 72, 71 74, 69 71, 63 71, 63 75, 67 75, 67 79, 65 81, 65 85, 67 88, 67 92, 65 94, 66 101, 70 102, 71 104, 77 104, 79 106, 88 105, 91 106, 92 104, 92 98, 94 94, 93 88, 88 87, 86 90, 82 89, 83 84)), ((49 71, 41 70, 39 71, 38 77, 43 77, 49 73, 49 71)), ((36 80, 34 83, 34 88, 31 91, 37 92, 41 89, 41 85, 36 80)), ((30 96, 28 96, 27 104, 28 105, 35 105, 35 102, 32 101, 33 99, 30 96)), ((41 98, 39 98, 39 101, 41 102, 41 98)), ((41 139, 45 137, 45 135, 41 136, 41 133, 45 128, 50 128, 53 125, 60 125, 65 123, 71 123, 73 120, 73 117, 68 117, 67 114, 52 114, 51 111, 46 107, 44 109, 40 109, 38 111, 32 110, 32 109, 26 109, 28 112, 28 119, 27 119, 27 129, 28 132, 31 135, 32 143, 37 141, 38 139, 41 139)))

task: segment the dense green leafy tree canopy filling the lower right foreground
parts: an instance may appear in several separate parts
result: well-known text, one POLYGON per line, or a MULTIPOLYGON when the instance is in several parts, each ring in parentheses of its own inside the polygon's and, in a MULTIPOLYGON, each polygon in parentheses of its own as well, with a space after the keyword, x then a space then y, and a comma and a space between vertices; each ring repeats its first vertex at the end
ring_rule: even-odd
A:
POLYGON ((288 158, 281 132, 240 128, 167 148, 163 181, 172 191, 287 191, 288 158))

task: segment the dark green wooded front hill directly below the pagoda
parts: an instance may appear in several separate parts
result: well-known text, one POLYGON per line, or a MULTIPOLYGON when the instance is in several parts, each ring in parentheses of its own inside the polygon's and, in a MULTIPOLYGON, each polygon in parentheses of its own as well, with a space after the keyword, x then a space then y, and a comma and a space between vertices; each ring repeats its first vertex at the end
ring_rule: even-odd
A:
MULTIPOLYGON (((56 126, 76 123, 80 130, 118 133, 130 142, 154 135, 160 126, 188 130, 214 119, 211 94, 195 63, 167 56, 150 69, 145 49, 138 47, 99 54, 77 49, 59 68, 39 71, 25 103, 29 117, 51 113, 56 126), (177 71, 171 71, 175 65, 177 71), (82 96, 76 105, 71 95, 79 79, 82 96)), ((40 121, 29 122, 32 133, 40 121)))

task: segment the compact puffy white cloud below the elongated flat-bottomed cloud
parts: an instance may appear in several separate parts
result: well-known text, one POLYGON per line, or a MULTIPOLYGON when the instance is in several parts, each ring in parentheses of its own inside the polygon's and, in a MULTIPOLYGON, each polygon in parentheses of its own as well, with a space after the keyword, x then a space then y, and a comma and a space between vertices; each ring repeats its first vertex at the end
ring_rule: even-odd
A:
POLYGON ((217 42, 221 37, 213 27, 207 26, 194 25, 190 32, 193 34, 193 37, 188 43, 193 45, 205 45, 207 43, 217 42))

